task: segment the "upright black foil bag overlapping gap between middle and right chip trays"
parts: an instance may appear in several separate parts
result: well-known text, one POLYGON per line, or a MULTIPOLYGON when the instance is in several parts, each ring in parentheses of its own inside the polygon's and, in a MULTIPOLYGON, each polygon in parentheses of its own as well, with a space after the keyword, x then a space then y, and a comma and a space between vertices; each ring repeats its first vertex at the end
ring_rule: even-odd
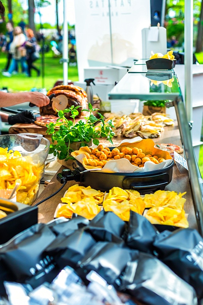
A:
POLYGON ((153 254, 153 242, 158 232, 147 218, 130 211, 130 220, 124 233, 126 245, 153 254))

